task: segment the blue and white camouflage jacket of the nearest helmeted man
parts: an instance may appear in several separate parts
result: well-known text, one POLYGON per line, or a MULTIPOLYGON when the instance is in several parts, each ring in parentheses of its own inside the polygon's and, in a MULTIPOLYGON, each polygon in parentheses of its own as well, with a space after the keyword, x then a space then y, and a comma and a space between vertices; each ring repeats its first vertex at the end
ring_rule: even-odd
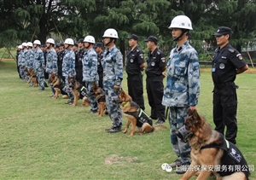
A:
POLYGON ((171 50, 166 78, 164 106, 189 107, 198 103, 200 66, 196 50, 188 42, 171 50))

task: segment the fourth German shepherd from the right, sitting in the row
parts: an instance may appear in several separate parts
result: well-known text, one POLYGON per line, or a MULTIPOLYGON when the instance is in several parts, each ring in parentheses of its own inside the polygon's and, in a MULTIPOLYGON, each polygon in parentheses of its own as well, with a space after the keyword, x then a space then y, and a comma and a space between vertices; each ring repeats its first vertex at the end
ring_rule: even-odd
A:
POLYGON ((72 94, 74 96, 72 106, 76 106, 79 99, 83 100, 84 106, 86 107, 90 106, 90 103, 88 101, 88 95, 86 94, 86 88, 82 84, 80 84, 75 77, 73 76, 68 77, 68 86, 71 89, 72 94))

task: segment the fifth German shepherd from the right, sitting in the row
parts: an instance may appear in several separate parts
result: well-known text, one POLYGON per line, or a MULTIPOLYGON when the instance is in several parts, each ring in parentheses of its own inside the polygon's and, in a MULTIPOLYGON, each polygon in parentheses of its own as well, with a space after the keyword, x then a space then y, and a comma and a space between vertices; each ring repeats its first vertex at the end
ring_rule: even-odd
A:
POLYGON ((65 84, 63 83, 62 79, 58 77, 55 73, 51 73, 49 76, 49 84, 55 89, 55 95, 52 97, 53 99, 57 99, 60 94, 67 96, 67 92, 65 90, 65 84))

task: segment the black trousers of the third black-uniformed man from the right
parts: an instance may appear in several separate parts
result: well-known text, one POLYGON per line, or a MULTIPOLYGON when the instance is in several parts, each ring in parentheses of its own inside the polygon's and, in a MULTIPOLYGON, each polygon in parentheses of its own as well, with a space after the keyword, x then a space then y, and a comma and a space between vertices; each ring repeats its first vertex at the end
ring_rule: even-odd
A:
POLYGON ((143 97, 143 74, 128 74, 127 85, 128 94, 131 96, 132 101, 136 102, 139 107, 145 110, 143 97))

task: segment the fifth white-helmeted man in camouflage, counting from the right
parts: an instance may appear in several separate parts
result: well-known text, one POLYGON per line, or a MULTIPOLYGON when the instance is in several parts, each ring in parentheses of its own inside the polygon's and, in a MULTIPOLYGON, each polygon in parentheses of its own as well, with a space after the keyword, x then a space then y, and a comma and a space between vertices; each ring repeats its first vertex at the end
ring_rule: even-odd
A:
MULTIPOLYGON (((57 68, 57 53, 54 49, 55 46, 55 40, 52 38, 49 38, 46 40, 46 47, 48 49, 47 55, 46 55, 46 70, 45 72, 49 74, 51 73, 57 73, 58 68, 57 68)), ((52 84, 50 85, 50 89, 52 91, 52 95, 50 97, 53 97, 55 95, 55 89, 52 86, 52 84)))

